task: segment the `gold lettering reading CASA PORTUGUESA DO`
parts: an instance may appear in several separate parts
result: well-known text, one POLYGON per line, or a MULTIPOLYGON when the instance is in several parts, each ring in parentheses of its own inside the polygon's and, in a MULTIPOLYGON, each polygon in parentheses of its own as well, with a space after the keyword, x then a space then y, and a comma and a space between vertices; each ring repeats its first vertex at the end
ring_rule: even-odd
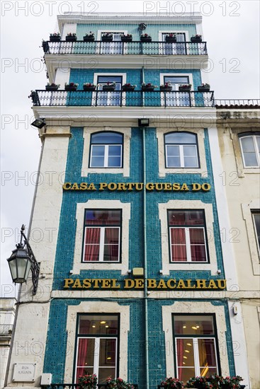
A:
POLYGON ((156 192, 198 192, 202 190, 203 192, 208 192, 211 186, 208 182, 204 182, 203 184, 199 184, 198 182, 191 184, 187 184, 186 182, 147 182, 145 186, 143 182, 100 182, 99 184, 94 184, 94 182, 64 182, 62 188, 63 190, 119 190, 120 192, 131 190, 147 190, 149 192, 154 190, 156 192))

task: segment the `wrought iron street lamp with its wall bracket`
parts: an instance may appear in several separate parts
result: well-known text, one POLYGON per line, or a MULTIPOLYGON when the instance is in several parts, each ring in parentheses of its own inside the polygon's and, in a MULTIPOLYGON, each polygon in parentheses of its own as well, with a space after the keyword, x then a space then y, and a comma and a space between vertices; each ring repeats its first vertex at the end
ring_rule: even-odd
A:
POLYGON ((24 230, 26 227, 21 227, 21 240, 16 245, 16 250, 13 250, 12 255, 8 258, 11 277, 15 284, 23 284, 28 279, 28 274, 31 270, 33 280, 33 294, 36 294, 38 288, 38 279, 40 273, 40 265, 38 264, 33 250, 28 243, 24 230), (23 243, 22 243, 23 241, 23 243))

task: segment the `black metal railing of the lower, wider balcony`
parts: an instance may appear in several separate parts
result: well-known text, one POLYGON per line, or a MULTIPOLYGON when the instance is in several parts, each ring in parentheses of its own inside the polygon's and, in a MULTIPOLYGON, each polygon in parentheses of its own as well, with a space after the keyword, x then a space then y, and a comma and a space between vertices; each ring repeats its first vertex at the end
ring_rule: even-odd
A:
POLYGON ((77 107, 213 107, 214 92, 35 91, 35 106, 77 107))

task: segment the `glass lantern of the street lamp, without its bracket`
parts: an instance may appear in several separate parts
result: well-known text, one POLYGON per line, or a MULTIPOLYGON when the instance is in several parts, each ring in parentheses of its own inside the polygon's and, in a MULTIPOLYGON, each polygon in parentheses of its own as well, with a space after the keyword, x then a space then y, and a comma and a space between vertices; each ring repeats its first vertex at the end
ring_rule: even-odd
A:
POLYGON ((15 284, 23 284, 28 279, 30 272, 31 260, 27 250, 21 243, 16 245, 16 250, 12 251, 9 262, 11 277, 15 284))

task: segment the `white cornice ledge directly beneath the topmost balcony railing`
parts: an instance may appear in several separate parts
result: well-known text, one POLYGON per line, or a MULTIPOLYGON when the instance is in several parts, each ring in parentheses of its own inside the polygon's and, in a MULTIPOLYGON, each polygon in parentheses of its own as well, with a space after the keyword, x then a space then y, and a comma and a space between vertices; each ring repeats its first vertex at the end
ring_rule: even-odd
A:
POLYGON ((208 55, 81 55, 45 54, 50 82, 56 69, 207 69, 208 55), (95 64, 96 63, 96 64, 95 64))

